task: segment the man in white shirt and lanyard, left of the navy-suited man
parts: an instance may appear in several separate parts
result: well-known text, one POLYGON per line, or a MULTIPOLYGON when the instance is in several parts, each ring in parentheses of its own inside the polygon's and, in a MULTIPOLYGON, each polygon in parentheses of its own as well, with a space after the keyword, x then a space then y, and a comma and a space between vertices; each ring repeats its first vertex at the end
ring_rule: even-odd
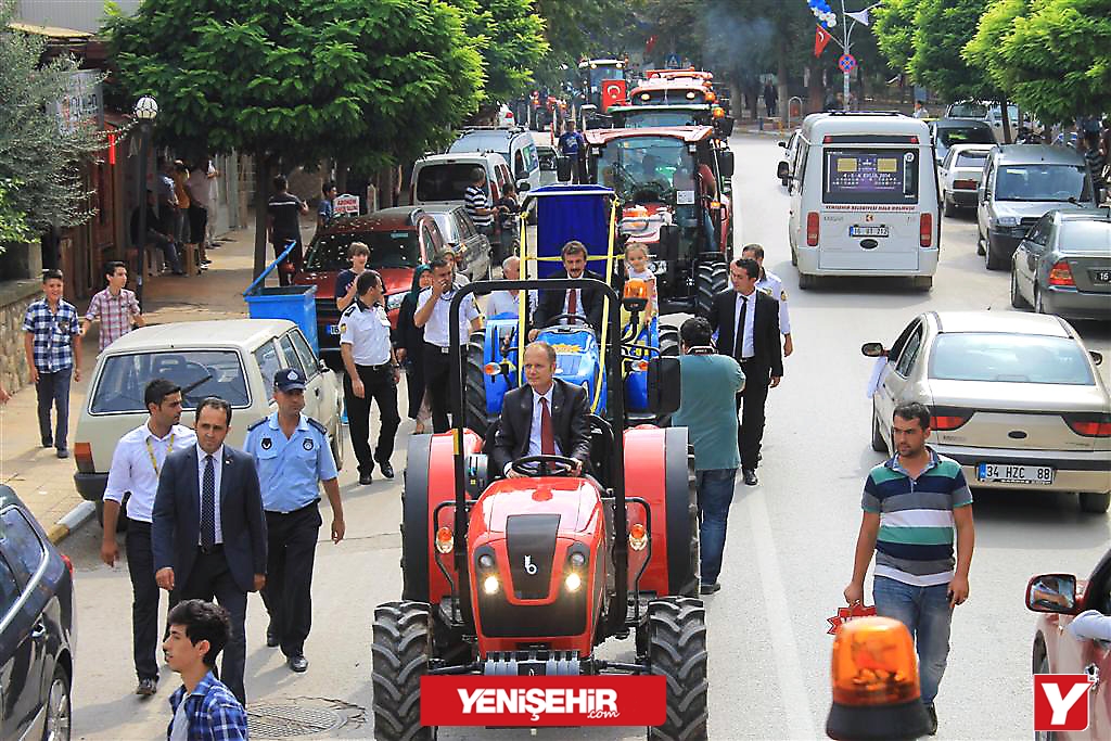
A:
POLYGON ((166 455, 197 443, 197 435, 181 420, 181 389, 164 378, 147 384, 143 401, 150 419, 120 438, 112 454, 104 488, 104 534, 100 558, 116 565, 119 545, 116 525, 124 497, 128 517, 128 572, 131 575, 131 635, 139 687, 136 694, 150 697, 158 691, 158 608, 159 591, 154 581, 154 555, 151 551, 150 523, 158 491, 158 475, 166 455))

